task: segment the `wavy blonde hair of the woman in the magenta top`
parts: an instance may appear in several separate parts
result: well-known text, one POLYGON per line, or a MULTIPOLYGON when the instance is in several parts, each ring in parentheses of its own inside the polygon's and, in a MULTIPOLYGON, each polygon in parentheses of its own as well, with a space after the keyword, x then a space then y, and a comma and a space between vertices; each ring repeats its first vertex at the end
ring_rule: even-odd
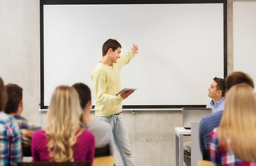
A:
POLYGON ((76 90, 70 86, 58 86, 51 97, 45 129, 51 161, 74 161, 73 146, 83 132, 79 120, 81 114, 76 90))

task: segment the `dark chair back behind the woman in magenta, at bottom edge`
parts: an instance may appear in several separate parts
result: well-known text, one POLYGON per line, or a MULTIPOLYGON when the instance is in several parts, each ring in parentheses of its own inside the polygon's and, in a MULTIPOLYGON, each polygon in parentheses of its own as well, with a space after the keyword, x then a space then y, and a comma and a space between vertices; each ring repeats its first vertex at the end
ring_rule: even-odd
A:
POLYGON ((62 162, 62 163, 53 163, 53 162, 18 162, 17 166, 89 166, 89 161, 80 161, 80 162, 62 162))

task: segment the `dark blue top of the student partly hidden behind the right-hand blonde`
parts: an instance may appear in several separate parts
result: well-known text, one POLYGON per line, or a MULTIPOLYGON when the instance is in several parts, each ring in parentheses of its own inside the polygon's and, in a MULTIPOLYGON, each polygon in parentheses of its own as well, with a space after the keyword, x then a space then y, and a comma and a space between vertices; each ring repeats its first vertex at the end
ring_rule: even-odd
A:
POLYGON ((223 111, 209 114, 200 121, 199 124, 199 144, 203 155, 203 149, 209 149, 210 133, 216 127, 219 127, 223 111))

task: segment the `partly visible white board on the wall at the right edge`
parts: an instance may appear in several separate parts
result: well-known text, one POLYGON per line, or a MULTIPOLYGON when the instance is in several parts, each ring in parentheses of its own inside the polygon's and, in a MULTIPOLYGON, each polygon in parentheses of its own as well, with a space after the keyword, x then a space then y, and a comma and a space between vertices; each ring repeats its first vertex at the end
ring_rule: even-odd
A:
MULTIPOLYGON (((256 81, 256 1, 233 2, 233 71, 256 81)), ((256 89, 254 89, 256 93, 256 89)))

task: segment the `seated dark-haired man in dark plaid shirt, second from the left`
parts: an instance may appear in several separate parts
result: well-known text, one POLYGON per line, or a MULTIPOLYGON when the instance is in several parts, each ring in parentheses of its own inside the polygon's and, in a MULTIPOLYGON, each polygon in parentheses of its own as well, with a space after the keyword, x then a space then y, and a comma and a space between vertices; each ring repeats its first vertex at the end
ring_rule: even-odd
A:
POLYGON ((29 122, 28 120, 22 117, 22 91, 23 89, 19 87, 17 84, 6 85, 8 100, 6 103, 5 113, 7 113, 10 116, 13 116, 17 120, 19 124, 19 129, 22 134, 22 145, 31 145, 33 133, 38 129, 41 129, 41 127, 37 126, 33 122, 29 122))

